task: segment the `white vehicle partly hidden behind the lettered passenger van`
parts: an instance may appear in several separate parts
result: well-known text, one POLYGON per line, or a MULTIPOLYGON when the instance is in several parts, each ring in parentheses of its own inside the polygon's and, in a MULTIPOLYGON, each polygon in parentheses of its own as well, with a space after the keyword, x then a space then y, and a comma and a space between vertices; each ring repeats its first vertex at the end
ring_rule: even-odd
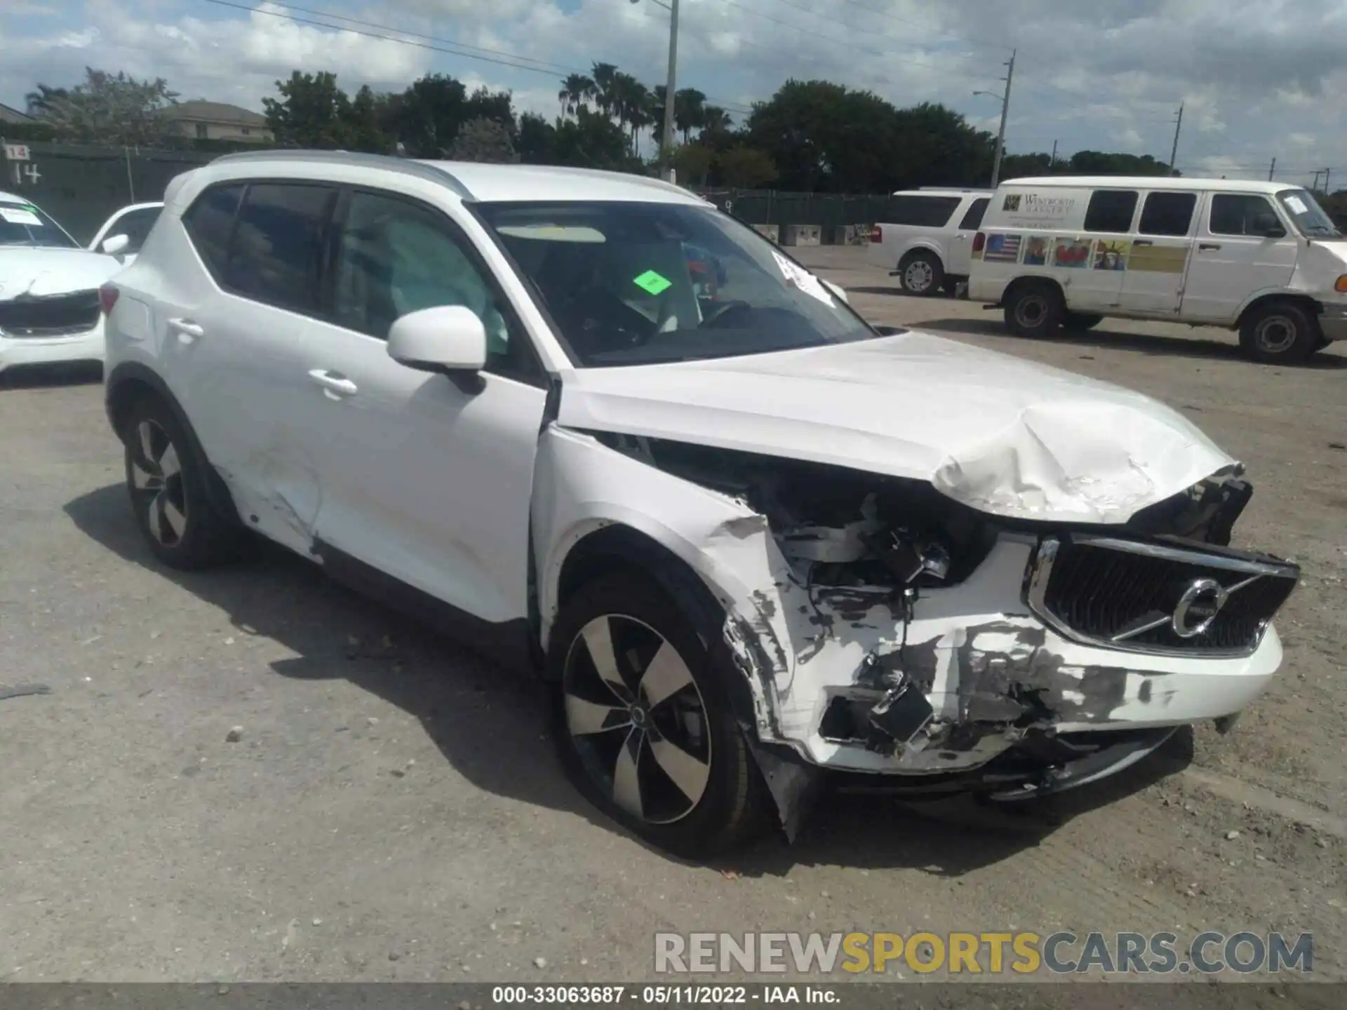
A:
POLYGON ((893 220, 870 225, 870 261, 908 295, 954 294, 968 279, 973 234, 990 202, 991 190, 900 190, 889 198, 893 220))

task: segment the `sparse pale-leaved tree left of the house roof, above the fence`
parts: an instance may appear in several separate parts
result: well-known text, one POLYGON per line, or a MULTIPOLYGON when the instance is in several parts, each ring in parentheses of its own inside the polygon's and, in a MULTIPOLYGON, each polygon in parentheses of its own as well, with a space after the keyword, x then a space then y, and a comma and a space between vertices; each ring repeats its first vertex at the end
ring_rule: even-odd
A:
POLYGON ((162 77, 141 81, 85 67, 85 79, 74 88, 39 83, 26 100, 61 140, 154 145, 178 137, 176 127, 159 114, 178 101, 162 77))

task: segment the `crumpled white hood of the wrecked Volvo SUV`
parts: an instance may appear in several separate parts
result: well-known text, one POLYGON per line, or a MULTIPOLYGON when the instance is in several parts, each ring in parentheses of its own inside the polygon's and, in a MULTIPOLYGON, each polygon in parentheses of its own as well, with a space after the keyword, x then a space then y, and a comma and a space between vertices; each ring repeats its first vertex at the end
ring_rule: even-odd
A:
POLYGON ((1125 523, 1235 461, 1141 393, 925 333, 566 376, 558 422, 929 482, 981 512, 1125 523))

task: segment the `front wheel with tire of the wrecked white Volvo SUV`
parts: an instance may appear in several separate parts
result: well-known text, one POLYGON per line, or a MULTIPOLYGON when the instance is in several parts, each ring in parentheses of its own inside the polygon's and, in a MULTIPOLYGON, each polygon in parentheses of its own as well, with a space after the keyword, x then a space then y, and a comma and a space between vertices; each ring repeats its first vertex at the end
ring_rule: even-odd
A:
POLYGON ((551 641, 562 762, 595 807, 690 859, 765 827, 766 784, 730 706, 742 675, 663 590, 602 576, 563 606, 551 641))

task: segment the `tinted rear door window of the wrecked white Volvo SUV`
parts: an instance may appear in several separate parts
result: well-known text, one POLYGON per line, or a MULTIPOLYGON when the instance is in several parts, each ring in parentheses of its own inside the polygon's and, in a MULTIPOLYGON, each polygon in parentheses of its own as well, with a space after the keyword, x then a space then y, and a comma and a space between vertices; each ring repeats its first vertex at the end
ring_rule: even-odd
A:
POLYGON ((335 197, 330 186, 248 186, 229 242, 224 285, 277 308, 317 311, 323 242, 335 197))

